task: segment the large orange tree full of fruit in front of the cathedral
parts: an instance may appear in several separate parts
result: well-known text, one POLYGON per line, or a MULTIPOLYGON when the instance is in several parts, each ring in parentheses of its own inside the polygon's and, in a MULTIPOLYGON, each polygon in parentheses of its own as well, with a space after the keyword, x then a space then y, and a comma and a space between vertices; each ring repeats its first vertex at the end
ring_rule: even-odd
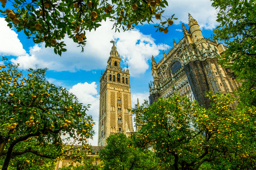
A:
POLYGON ((231 95, 206 96, 212 108, 173 95, 133 109, 142 124, 134 142, 152 146, 165 169, 254 169, 255 107, 231 109, 231 95))

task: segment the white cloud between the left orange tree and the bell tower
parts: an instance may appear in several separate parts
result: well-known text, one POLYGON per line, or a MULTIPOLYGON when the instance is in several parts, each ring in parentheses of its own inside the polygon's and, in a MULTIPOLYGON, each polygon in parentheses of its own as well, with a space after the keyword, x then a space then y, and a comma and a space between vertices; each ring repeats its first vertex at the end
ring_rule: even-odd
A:
POLYGON ((80 103, 83 103, 85 106, 90 104, 89 111, 87 115, 92 115, 95 125, 93 126, 95 134, 93 135, 93 140, 89 140, 92 146, 98 146, 98 122, 99 122, 99 95, 97 91, 97 84, 92 83, 77 83, 69 92, 76 95, 80 103))

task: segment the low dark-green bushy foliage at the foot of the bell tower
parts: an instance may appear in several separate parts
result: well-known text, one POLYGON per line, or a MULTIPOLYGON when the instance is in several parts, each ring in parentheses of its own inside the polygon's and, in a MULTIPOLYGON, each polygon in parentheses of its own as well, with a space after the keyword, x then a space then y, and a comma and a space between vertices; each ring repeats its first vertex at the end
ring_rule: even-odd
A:
POLYGON ((134 147, 125 134, 115 133, 106 141, 108 145, 100 151, 103 169, 158 169, 154 152, 134 147))

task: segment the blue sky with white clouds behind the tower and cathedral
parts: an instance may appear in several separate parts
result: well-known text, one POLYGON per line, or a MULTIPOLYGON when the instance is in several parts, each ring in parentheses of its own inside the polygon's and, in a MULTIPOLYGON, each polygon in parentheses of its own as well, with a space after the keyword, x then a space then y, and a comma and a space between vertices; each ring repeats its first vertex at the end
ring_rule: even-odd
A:
MULTIPOLYGON (((9 29, 7 23, 0 16, 0 55, 5 56, 13 63, 19 63, 20 69, 47 67, 46 78, 50 82, 67 88, 75 94, 81 103, 91 104, 88 114, 91 114, 96 122, 95 135, 91 144, 97 146, 98 140, 98 114, 99 114, 99 81, 101 71, 107 66, 107 60, 112 44, 111 39, 116 40, 118 53, 122 58, 122 67, 129 64, 131 74, 131 98, 132 105, 148 99, 148 83, 151 76, 151 56, 156 62, 163 57, 163 50, 167 53, 183 37, 182 25, 188 28, 188 13, 197 20, 203 36, 211 37, 213 29, 218 23, 215 21, 217 11, 211 7, 210 0, 169 0, 169 7, 164 15, 175 14, 174 24, 169 27, 169 32, 155 32, 153 24, 137 25, 130 31, 115 33, 111 30, 110 21, 103 22, 96 31, 86 32, 87 45, 84 53, 76 47, 72 40, 65 39, 68 52, 62 56, 55 55, 52 48, 44 48, 44 44, 34 44, 27 39, 23 32, 9 29)), ((7 2, 9 3, 9 2, 7 2)), ((6 7, 8 8, 8 7, 6 7)), ((0 7, 1 10, 5 10, 0 7)), ((154 20, 155 24, 159 22, 154 20)), ((67 36, 66 36, 67 37, 67 36)))

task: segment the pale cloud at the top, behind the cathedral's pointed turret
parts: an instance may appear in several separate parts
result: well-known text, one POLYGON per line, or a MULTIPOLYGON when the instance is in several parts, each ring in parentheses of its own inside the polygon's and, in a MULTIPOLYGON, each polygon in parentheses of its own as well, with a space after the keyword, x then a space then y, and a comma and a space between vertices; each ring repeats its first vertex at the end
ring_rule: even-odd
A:
MULTIPOLYGON (((164 15, 171 16, 173 14, 174 24, 188 23, 188 13, 197 20, 200 28, 214 29, 217 27, 217 10, 212 7, 212 2, 207 0, 167 0, 169 6, 166 8, 164 15)), ((188 29, 188 28, 187 28, 188 29)))

